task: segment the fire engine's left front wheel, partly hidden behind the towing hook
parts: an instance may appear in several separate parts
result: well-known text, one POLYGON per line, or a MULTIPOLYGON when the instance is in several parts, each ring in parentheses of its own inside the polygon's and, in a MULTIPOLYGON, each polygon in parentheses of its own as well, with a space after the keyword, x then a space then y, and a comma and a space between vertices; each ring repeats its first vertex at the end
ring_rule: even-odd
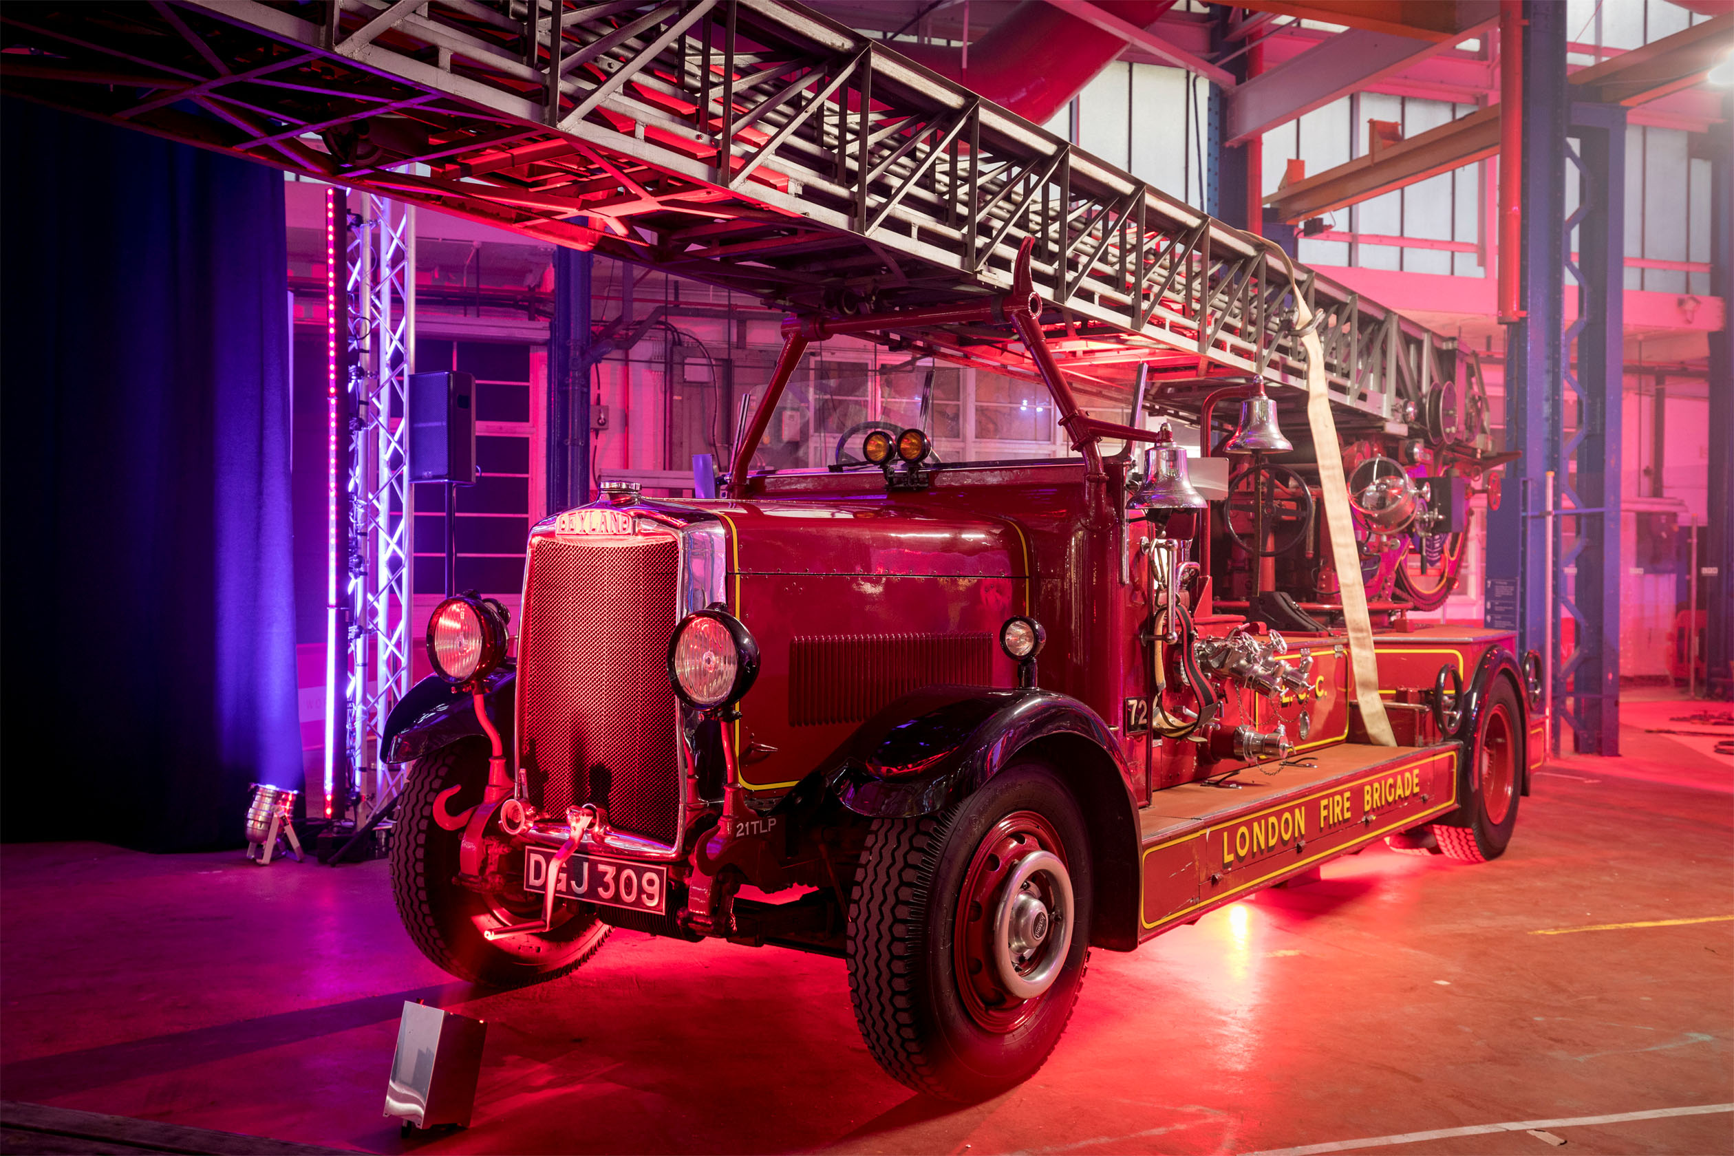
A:
MULTIPOLYGON (((513 896, 512 906, 460 887, 463 825, 487 785, 487 750, 465 740, 416 759, 407 771, 392 839, 392 896, 411 941, 460 979, 522 988, 567 974, 593 957, 610 927, 591 906, 564 903, 565 922, 539 934, 489 943, 482 927, 539 919, 541 905, 513 896), (435 822, 440 816, 442 822, 435 822)), ((560 912, 555 913, 560 919, 560 912)))

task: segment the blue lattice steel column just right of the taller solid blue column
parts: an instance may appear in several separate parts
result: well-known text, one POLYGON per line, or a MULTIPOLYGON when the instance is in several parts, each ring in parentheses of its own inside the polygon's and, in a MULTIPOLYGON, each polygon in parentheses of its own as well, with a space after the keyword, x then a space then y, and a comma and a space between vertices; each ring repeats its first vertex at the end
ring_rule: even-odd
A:
POLYGON ((1568 180, 1578 210, 1566 222, 1568 284, 1578 317, 1566 329, 1562 378, 1574 402, 1574 430, 1561 445, 1564 470, 1554 489, 1555 581, 1561 615, 1573 622, 1555 686, 1559 711, 1581 754, 1620 754, 1620 458, 1625 385, 1625 132, 1613 104, 1574 104, 1568 180), (1573 354, 1576 357, 1573 359, 1573 354), (1569 541, 1569 544, 1568 544, 1569 541), (1564 549, 1561 549, 1562 546, 1564 549))

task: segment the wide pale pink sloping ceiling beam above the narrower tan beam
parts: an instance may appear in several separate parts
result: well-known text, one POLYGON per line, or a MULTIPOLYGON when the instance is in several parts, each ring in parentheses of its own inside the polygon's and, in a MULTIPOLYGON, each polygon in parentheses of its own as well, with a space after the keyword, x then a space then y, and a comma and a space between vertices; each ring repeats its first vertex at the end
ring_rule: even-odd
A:
MULTIPOLYGON (((1472 26, 1465 35, 1479 28, 1472 26)), ((1446 40, 1417 40, 1365 28, 1337 33, 1236 87, 1228 95, 1226 144, 1262 135, 1450 47, 1446 40)))

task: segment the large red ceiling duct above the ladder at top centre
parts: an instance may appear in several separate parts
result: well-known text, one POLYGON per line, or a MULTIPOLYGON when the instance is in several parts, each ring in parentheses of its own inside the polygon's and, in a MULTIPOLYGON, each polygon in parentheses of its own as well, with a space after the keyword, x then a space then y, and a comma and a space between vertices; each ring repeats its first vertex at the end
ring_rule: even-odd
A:
MULTIPOLYGON (((1096 7, 1122 21, 1148 28, 1174 7, 1174 0, 1096 0, 1096 7)), ((969 45, 968 68, 961 49, 895 45, 909 59, 931 68, 1023 120, 1046 125, 1122 52, 1125 40, 1072 16, 1046 0, 1025 0, 969 45)))

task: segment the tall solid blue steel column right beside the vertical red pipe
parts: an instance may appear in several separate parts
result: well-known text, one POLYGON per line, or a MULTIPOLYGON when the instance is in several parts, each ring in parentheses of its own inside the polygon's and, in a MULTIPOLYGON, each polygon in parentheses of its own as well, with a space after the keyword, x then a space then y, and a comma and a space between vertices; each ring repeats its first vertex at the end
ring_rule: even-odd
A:
MULTIPOLYGON (((1486 624, 1517 633, 1517 648, 1545 638, 1545 478, 1559 468, 1561 331, 1566 218, 1566 5, 1524 3, 1522 42, 1522 319, 1505 329, 1503 501, 1488 513, 1486 624)), ((1500 260, 1509 260, 1500 253, 1500 260)), ((1557 641, 1557 636, 1555 636, 1557 641)), ((1555 671, 1557 686, 1557 664, 1555 671)), ((1550 700, 1554 700, 1550 688, 1550 700)))

